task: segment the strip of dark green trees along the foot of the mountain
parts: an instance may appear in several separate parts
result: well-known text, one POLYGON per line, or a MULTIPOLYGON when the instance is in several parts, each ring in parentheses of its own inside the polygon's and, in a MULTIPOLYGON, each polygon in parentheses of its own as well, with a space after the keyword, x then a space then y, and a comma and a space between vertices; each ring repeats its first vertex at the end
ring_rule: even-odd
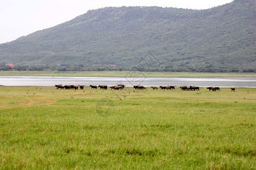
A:
POLYGON ((1 71, 169 71, 169 72, 198 72, 198 73, 255 73, 255 69, 229 69, 214 67, 212 65, 196 67, 196 66, 160 66, 160 67, 118 67, 109 65, 14 65, 6 66, 5 62, 0 63, 1 71))

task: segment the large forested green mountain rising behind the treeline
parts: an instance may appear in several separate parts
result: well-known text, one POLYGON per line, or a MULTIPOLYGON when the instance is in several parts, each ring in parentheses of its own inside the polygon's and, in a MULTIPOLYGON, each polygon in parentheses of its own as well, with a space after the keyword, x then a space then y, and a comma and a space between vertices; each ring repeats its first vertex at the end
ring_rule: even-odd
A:
POLYGON ((126 69, 139 66, 151 71, 255 72, 255 7, 254 0, 234 0, 207 10, 90 10, 63 24, 0 44, 0 61, 126 69), (144 59, 151 59, 151 63, 144 59))

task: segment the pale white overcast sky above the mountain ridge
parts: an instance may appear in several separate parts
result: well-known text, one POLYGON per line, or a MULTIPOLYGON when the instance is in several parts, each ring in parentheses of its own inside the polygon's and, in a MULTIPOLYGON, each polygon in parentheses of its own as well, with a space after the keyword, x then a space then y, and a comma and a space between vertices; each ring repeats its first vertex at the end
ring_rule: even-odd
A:
POLYGON ((0 0, 0 44, 67 22, 88 10, 161 6, 203 10, 233 0, 0 0))

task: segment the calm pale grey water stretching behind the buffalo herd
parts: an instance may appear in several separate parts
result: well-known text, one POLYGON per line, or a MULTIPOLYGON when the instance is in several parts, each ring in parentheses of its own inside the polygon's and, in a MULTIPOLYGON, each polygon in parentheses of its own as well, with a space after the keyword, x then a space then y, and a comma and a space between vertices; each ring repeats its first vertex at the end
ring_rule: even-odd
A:
POLYGON ((256 78, 212 77, 93 77, 93 76, 0 76, 3 86, 55 86, 55 84, 125 86, 218 86, 256 88, 256 78))

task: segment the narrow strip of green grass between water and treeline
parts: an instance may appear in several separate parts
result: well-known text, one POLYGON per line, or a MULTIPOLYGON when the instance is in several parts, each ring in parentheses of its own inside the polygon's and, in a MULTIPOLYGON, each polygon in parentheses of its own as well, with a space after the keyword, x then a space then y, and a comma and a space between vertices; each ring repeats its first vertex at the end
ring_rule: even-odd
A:
MULTIPOLYGON (((134 71, 0 71, 0 75, 30 76, 130 76, 134 71)), ((185 73, 185 72, 137 72, 135 76, 217 76, 217 77, 256 77, 255 73, 185 73)))

